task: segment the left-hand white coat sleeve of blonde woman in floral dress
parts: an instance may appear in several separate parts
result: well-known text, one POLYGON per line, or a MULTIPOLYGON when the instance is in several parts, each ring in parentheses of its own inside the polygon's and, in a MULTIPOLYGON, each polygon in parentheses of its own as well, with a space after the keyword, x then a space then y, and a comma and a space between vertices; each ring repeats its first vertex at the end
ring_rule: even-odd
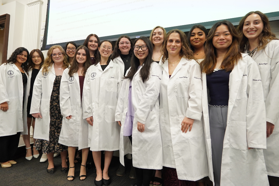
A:
POLYGON ((41 96, 42 96, 42 69, 39 71, 34 82, 30 114, 40 113, 41 96))

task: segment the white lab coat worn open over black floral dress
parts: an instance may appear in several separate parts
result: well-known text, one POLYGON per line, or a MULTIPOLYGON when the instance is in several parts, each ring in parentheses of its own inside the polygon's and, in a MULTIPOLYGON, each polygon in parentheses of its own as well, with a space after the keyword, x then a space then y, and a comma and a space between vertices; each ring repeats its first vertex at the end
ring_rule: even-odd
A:
POLYGON ((52 65, 47 73, 42 73, 41 69, 34 82, 30 114, 41 113, 42 116, 35 120, 36 130, 33 136, 35 139, 49 140, 49 106, 55 78, 54 65, 52 65))

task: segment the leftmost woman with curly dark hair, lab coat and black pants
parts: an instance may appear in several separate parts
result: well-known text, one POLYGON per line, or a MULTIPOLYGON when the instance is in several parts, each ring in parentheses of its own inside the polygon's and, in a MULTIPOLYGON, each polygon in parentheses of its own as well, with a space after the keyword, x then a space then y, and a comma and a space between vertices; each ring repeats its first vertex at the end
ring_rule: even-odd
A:
POLYGON ((2 167, 16 164, 13 158, 18 147, 20 132, 27 134, 28 60, 28 50, 19 47, 6 63, 0 66, 0 164, 2 167))

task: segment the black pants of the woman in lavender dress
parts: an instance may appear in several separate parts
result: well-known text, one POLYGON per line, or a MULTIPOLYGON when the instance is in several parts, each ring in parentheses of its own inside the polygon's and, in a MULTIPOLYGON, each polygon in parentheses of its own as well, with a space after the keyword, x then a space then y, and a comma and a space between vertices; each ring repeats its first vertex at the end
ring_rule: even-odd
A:
MULTIPOLYGON (((129 136, 129 139, 132 144, 132 135, 129 136)), ((137 186, 149 186, 152 179, 153 169, 141 169, 135 167, 135 171, 137 175, 137 186)))

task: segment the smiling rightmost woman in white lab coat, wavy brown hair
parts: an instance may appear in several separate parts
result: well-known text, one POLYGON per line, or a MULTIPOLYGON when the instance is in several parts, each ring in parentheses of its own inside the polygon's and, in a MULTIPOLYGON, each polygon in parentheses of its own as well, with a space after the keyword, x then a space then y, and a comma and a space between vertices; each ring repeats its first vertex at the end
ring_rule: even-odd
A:
POLYGON ((271 32, 267 16, 260 11, 246 14, 237 29, 241 36, 241 51, 248 53, 257 62, 261 75, 267 114, 267 149, 263 151, 264 159, 269 178, 274 176, 279 183, 279 161, 273 156, 279 154, 279 40, 271 32))

